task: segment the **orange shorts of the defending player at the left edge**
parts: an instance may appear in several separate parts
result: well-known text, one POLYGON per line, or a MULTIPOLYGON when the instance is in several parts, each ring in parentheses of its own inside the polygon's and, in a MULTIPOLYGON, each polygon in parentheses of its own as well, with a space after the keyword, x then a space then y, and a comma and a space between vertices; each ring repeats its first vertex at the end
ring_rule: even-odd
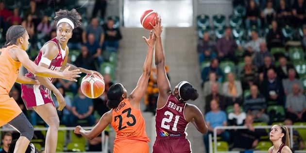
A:
POLYGON ((0 94, 0 127, 16 118, 21 112, 13 98, 10 98, 7 93, 0 94))

